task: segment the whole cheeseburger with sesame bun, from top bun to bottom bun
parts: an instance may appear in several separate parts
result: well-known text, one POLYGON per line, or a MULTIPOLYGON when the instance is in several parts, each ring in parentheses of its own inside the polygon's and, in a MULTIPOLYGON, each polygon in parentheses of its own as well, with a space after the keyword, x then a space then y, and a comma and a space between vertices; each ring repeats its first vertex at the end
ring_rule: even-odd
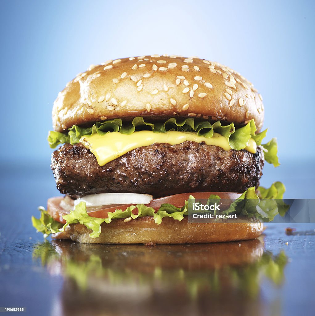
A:
MULTIPOLYGON (((40 208, 45 236, 82 243, 247 240, 278 214, 259 198, 265 161, 279 165, 262 96, 238 72, 196 57, 151 55, 91 65, 58 94, 48 142, 64 194, 40 208), (189 199, 229 199, 233 220, 189 222, 189 199), (248 202, 248 199, 253 199, 248 202), (264 204, 265 205, 265 204, 264 204)), ((277 203, 276 203, 277 206, 277 203)))

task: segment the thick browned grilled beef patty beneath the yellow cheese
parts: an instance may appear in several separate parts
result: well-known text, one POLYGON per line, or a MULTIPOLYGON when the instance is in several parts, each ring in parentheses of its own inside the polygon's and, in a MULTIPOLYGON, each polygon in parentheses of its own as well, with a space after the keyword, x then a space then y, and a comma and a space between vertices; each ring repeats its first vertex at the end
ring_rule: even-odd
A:
POLYGON ((259 185, 261 147, 225 151, 205 143, 155 143, 99 166, 82 144, 65 144, 52 154, 58 190, 73 197, 93 193, 147 193, 154 197, 185 192, 244 192, 259 185))

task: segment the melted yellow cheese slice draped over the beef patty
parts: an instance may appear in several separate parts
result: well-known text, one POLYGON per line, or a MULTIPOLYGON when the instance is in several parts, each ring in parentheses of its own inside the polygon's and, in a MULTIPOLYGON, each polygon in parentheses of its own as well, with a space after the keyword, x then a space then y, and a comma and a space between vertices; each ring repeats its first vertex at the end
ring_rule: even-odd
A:
MULTIPOLYGON (((197 133, 179 131, 168 131, 165 133, 139 131, 130 135, 112 132, 105 135, 86 135, 80 139, 80 142, 95 155, 100 166, 104 166, 106 163, 128 153, 128 151, 139 147, 150 146, 154 143, 177 145, 186 141, 205 142, 207 145, 218 146, 224 150, 231 149, 229 141, 218 133, 213 133, 213 137, 207 138, 198 136, 197 133)), ((244 149, 255 153, 257 145, 250 138, 247 147, 244 149)))

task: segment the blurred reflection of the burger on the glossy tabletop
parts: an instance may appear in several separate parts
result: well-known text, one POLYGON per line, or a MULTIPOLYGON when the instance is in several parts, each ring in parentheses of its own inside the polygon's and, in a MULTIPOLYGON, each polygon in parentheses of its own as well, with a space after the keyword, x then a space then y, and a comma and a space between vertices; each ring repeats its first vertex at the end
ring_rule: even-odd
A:
POLYGON ((268 302, 281 287, 287 257, 262 239, 196 245, 98 245, 68 241, 35 246, 33 259, 62 274, 61 315, 277 315, 268 302), (269 295, 270 296, 270 295, 269 295))

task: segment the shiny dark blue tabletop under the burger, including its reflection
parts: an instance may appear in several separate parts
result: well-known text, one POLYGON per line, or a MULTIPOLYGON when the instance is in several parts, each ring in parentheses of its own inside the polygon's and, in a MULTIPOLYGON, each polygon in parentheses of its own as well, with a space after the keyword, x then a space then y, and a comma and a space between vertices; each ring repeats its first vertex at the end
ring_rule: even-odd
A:
POLYGON ((2 170, 0 307, 25 307, 23 315, 315 313, 313 223, 268 223, 259 239, 218 244, 44 241, 31 216, 57 195, 49 167, 15 172, 2 170), (287 235, 288 226, 296 231, 287 235))

